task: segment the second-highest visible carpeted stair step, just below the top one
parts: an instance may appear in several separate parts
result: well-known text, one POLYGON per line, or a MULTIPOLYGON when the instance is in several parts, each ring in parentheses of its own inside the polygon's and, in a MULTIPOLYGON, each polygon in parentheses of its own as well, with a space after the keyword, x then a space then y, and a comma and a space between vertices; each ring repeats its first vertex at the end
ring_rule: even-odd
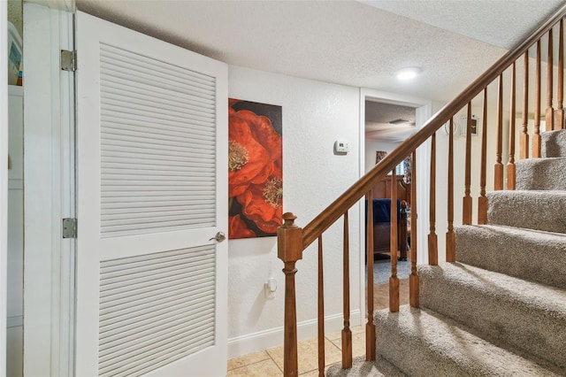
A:
POLYGON ((566 190, 566 158, 517 161, 516 189, 566 190))

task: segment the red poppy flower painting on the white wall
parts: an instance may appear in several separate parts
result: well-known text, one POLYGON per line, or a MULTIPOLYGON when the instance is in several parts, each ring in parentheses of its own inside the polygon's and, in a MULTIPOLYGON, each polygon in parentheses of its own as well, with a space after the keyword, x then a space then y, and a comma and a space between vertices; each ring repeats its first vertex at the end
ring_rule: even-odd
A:
POLYGON ((281 106, 228 100, 228 238, 277 235, 283 221, 281 106))

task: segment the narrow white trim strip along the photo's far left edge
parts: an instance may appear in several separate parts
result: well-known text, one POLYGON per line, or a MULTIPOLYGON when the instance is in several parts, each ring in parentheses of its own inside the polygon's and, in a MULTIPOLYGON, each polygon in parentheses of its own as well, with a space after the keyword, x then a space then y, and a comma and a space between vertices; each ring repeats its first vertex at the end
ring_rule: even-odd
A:
MULTIPOLYGON (((0 3, 0 30, 8 30, 7 2, 0 3)), ((4 35, 4 33, 2 33, 4 35)), ((8 256, 8 40, 0 40, 0 371, 6 370, 6 300, 8 256)))

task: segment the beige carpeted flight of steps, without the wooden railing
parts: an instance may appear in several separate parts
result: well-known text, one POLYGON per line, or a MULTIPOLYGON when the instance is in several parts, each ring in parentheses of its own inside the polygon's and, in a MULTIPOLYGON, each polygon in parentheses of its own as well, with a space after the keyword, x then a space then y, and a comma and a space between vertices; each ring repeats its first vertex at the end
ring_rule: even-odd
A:
POLYGON ((488 197, 488 225, 455 227, 456 262, 419 265, 420 309, 375 313, 375 363, 342 376, 566 375, 566 130, 488 197))

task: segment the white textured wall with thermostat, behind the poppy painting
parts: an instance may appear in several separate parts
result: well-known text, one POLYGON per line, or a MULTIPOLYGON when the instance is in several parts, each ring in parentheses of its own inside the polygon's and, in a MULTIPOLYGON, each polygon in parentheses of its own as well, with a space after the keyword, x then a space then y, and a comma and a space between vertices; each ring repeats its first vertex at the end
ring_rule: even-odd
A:
MULTIPOLYGON (((304 227, 358 178, 359 89, 308 81, 248 68, 229 68, 229 96, 276 104, 283 110, 283 209, 294 212, 304 227), (346 156, 333 154, 336 139, 349 142, 346 156)), ((359 212, 350 214, 352 326, 359 311, 359 212)), ((326 231, 325 317, 327 331, 342 327, 341 221, 326 231)), ((228 356, 283 343, 284 274, 275 237, 229 241, 228 356), (274 299, 264 297, 264 282, 274 277, 274 299)), ((316 335, 317 242, 296 265, 299 337, 316 335)))

